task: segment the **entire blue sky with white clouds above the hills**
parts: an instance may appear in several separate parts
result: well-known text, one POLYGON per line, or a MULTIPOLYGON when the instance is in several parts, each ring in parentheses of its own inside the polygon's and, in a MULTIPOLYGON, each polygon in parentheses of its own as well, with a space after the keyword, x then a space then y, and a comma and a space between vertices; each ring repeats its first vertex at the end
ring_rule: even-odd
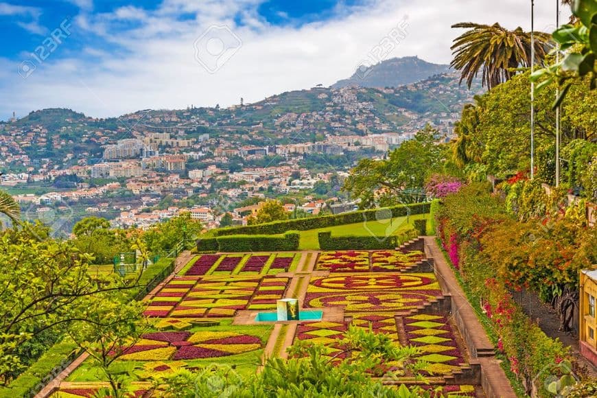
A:
MULTIPOLYGON (((552 32, 555 1, 535 3, 535 29, 552 32)), ((530 1, 0 0, 0 120, 224 107, 393 57, 447 64, 458 22, 530 30, 530 1)))

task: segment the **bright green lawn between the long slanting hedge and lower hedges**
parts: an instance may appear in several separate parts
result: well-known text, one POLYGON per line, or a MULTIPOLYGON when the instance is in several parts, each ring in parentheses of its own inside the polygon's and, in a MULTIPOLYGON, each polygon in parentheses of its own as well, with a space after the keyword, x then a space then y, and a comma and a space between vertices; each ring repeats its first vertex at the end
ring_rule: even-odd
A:
POLYGON ((397 217, 386 220, 364 221, 355 224, 344 224, 337 226, 330 226, 323 229, 309 229, 307 231, 299 231, 301 234, 301 241, 299 243, 300 250, 318 250, 319 242, 317 234, 319 232, 331 231, 332 236, 390 236, 398 235, 403 232, 408 226, 412 226, 414 220, 422 218, 429 219, 429 214, 415 214, 407 217, 397 217))

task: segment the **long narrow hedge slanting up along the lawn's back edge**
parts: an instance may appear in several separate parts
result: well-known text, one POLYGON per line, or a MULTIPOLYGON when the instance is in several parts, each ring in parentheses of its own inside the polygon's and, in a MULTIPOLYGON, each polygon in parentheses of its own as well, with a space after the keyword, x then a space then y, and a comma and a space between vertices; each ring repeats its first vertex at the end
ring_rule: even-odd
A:
POLYGON ((215 236, 224 235, 278 235, 287 231, 305 231, 307 229, 327 228, 356 222, 385 220, 387 218, 402 217, 412 214, 423 214, 430 211, 429 203, 401 204, 383 209, 368 209, 351 211, 336 215, 321 217, 297 218, 294 220, 274 221, 266 224, 234 226, 213 231, 215 236))

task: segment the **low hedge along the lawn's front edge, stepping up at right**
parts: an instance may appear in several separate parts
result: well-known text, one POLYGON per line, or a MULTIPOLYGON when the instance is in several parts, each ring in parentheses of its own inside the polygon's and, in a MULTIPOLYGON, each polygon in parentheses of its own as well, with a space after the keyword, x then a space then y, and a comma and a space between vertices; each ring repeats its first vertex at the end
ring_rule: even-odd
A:
POLYGON ((416 235, 415 231, 410 229, 402 235, 332 237, 331 232, 325 231, 318 233, 317 237, 321 250, 379 250, 396 248, 414 235, 416 235))

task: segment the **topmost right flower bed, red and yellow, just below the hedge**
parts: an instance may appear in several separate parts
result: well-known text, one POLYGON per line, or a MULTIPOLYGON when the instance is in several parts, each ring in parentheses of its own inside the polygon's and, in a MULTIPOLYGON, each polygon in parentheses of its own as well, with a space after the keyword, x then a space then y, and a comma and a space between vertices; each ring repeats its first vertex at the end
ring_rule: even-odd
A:
POLYGON ((329 272, 396 272, 408 270, 425 255, 419 250, 336 250, 320 253, 315 269, 329 272))

